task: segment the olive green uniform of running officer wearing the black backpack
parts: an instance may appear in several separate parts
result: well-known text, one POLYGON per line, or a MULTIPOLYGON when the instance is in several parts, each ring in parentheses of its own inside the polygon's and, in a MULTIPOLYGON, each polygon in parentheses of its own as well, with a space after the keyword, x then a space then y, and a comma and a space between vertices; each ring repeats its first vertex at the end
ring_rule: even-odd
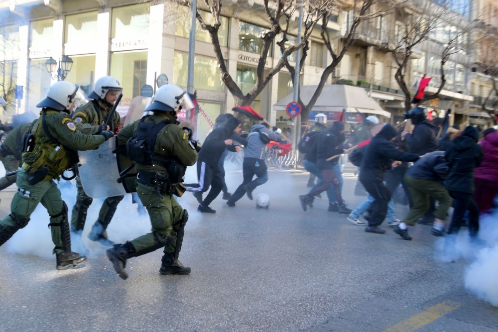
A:
MULTIPOLYGON (((153 115, 145 118, 146 123, 160 123, 164 120, 174 121, 166 124, 155 136, 153 152, 164 160, 175 158, 182 167, 192 166, 197 161, 197 151, 189 143, 188 135, 177 124, 174 113, 156 111, 153 115)), ((125 144, 137 131, 140 120, 124 127, 118 134, 118 144, 125 144)), ((188 220, 187 210, 173 198, 171 188, 178 189, 178 183, 171 183, 168 179, 167 167, 162 162, 154 162, 146 165, 135 162, 137 170, 136 191, 140 201, 143 203, 150 217, 152 231, 139 236, 124 244, 116 244, 114 248, 107 250, 109 259, 115 265, 116 271, 121 278, 126 279, 124 271, 126 259, 164 248, 160 272, 162 274, 188 274, 190 268, 184 267, 178 260, 178 254, 183 242, 185 224, 188 220), (160 179, 160 181, 156 181, 160 179), (163 184, 169 188, 164 190, 163 184), (120 263, 118 263, 118 261, 120 263), (120 266, 119 269, 117 266, 120 266)), ((183 187, 184 189, 184 187, 183 187)), ((176 191, 181 196, 184 191, 176 191)))

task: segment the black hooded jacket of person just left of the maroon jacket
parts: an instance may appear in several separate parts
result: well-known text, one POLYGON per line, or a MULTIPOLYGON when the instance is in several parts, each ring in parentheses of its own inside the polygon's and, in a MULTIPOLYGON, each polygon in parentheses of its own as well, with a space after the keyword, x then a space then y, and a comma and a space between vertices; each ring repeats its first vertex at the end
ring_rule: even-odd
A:
POLYGON ((462 135, 452 140, 446 149, 450 172, 445 186, 449 191, 474 193, 474 168, 483 161, 483 150, 477 143, 479 132, 468 126, 462 135))

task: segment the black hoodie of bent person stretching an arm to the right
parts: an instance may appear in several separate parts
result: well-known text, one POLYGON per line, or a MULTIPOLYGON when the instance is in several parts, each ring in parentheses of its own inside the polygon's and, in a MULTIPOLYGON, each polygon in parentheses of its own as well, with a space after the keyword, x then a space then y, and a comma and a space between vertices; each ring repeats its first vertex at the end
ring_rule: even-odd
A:
POLYGON ((385 124, 380 132, 376 134, 367 146, 365 155, 362 158, 360 169, 361 182, 382 182, 385 171, 391 168, 394 160, 417 161, 418 155, 403 152, 396 148, 391 139, 396 136, 396 129, 385 124))

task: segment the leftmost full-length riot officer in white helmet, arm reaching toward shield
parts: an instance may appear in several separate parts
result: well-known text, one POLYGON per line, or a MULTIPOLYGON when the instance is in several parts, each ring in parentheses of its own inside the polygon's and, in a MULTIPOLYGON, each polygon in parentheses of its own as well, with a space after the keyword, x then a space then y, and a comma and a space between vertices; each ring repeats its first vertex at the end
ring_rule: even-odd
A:
POLYGON ((100 135, 87 135, 76 130, 68 117, 78 86, 57 82, 48 90, 47 98, 38 105, 40 118, 33 121, 24 139, 22 166, 17 173, 17 192, 12 198, 10 214, 0 221, 0 245, 17 230, 27 225, 36 206, 41 203, 48 211, 55 244, 57 269, 77 266, 85 256, 71 251, 68 208, 53 181, 74 163, 76 150, 97 148, 114 133, 104 130, 100 135))

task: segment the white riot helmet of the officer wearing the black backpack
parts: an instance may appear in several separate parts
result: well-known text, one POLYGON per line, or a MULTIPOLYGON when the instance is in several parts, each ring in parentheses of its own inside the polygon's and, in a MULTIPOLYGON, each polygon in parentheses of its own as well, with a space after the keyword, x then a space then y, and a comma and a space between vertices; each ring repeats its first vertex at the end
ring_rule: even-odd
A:
POLYGON ((145 111, 172 112, 178 109, 191 110, 193 108, 194 103, 182 88, 174 84, 166 84, 157 90, 152 104, 145 111))

